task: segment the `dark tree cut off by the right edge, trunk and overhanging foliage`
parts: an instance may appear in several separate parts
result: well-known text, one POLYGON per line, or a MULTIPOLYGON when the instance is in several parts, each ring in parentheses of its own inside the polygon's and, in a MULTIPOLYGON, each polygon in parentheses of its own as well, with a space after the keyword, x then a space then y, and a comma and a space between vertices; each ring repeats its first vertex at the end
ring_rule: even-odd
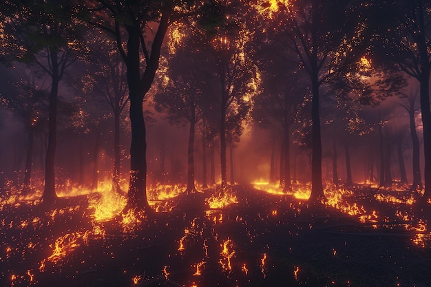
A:
POLYGON ((381 59, 390 60, 397 68, 419 82, 419 98, 423 125, 425 193, 423 202, 431 198, 431 109, 430 109, 430 29, 431 3, 423 0, 381 0, 375 3, 376 37, 374 48, 381 59), (388 21, 390 19, 390 21, 388 21), (383 45, 382 45, 383 44, 383 45))

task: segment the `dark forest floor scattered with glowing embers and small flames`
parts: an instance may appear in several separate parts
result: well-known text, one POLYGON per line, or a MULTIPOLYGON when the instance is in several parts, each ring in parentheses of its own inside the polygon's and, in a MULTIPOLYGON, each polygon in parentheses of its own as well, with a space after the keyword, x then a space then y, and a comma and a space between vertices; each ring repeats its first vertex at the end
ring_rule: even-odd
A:
POLYGON ((104 222, 85 195, 50 210, 3 205, 0 286, 431 286, 431 205, 408 191, 358 187, 308 206, 235 186, 236 203, 209 209, 211 192, 104 222))

